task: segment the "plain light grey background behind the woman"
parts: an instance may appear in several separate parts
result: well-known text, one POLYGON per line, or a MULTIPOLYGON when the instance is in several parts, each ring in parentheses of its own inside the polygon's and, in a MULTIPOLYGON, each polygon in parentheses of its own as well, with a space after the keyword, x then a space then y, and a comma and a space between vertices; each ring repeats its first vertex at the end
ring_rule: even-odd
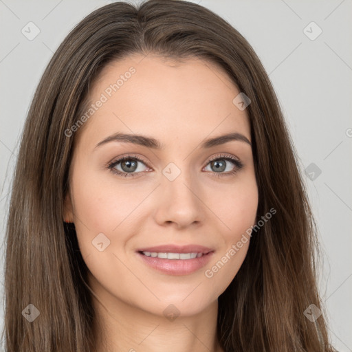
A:
MULTIPOLYGON (((45 66, 68 32, 92 10, 109 2, 0 0, 1 306, 9 186, 29 104, 45 66), (40 30, 32 41, 21 32, 30 21, 40 30)), ((270 75, 300 157, 320 230, 320 293, 328 313, 329 333, 339 351, 352 351, 352 2, 194 2, 239 30, 270 75), (309 24, 312 21, 318 27, 309 24), (322 33, 314 39, 319 28, 322 33), (311 163, 314 165, 309 166, 311 163), (310 175, 305 173, 308 166, 310 175)))

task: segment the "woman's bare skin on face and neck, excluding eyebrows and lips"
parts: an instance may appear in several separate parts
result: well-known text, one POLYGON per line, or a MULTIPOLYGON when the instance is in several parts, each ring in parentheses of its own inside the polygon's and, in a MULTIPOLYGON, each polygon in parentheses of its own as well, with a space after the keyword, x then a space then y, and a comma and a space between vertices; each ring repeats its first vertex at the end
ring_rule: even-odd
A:
POLYGON ((228 255, 219 270, 212 267, 255 224, 258 189, 250 144, 230 140, 204 148, 201 143, 230 132, 251 142, 248 115, 232 103, 240 91, 212 63, 177 63, 149 54, 104 67, 90 91, 91 102, 103 93, 107 101, 76 132, 65 203, 107 342, 104 348, 97 342, 99 351, 223 352, 217 299, 241 267, 250 241, 228 255), (129 67, 135 73, 107 96, 107 87, 129 67), (164 149, 121 141, 96 147, 114 133, 153 137, 164 149), (122 162, 107 167, 126 155, 132 162, 135 156, 143 159, 133 177, 124 176, 129 170, 122 162), (225 166, 220 172, 212 157, 225 166), (169 163, 180 171, 173 181, 163 173, 176 172, 166 167, 169 163), (92 245, 98 234, 110 241, 102 251, 92 245), (206 266, 184 275, 159 272, 136 252, 168 243, 204 245, 214 252, 206 266), (174 320, 164 314, 170 305, 179 314, 174 320))

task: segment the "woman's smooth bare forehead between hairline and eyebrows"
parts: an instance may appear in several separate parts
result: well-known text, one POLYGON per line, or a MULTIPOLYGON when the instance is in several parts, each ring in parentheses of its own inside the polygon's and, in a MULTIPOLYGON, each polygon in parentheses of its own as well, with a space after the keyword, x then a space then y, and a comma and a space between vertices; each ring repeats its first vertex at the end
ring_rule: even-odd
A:
POLYGON ((86 122, 85 134, 141 133, 168 144, 235 131, 250 140, 248 115, 232 102, 239 93, 209 61, 136 54, 102 70, 89 95, 90 104, 102 103, 86 122))

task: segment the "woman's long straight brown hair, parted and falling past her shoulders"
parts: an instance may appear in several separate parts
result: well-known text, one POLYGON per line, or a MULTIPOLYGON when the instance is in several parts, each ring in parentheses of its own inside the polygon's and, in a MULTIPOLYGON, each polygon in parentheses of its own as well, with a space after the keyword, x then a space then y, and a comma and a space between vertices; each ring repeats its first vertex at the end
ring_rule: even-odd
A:
POLYGON ((250 44, 201 5, 151 0, 95 10, 56 50, 36 89, 14 175, 5 248, 5 349, 95 351, 96 311, 74 225, 63 223, 76 133, 89 88, 107 63, 129 54, 195 57, 218 64, 251 100, 258 219, 248 254, 219 296, 217 338, 225 351, 336 351, 316 279, 318 241, 298 157, 274 89, 250 44), (29 322, 25 309, 38 318, 29 322))

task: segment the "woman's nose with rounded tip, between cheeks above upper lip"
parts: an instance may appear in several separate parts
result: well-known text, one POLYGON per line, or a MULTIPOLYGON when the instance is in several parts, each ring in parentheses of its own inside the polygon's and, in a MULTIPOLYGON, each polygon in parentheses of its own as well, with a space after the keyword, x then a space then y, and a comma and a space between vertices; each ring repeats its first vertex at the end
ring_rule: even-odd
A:
POLYGON ((201 187, 184 171, 173 181, 163 175, 155 197, 155 221, 159 225, 182 229, 200 225, 206 219, 207 207, 203 203, 201 187))

